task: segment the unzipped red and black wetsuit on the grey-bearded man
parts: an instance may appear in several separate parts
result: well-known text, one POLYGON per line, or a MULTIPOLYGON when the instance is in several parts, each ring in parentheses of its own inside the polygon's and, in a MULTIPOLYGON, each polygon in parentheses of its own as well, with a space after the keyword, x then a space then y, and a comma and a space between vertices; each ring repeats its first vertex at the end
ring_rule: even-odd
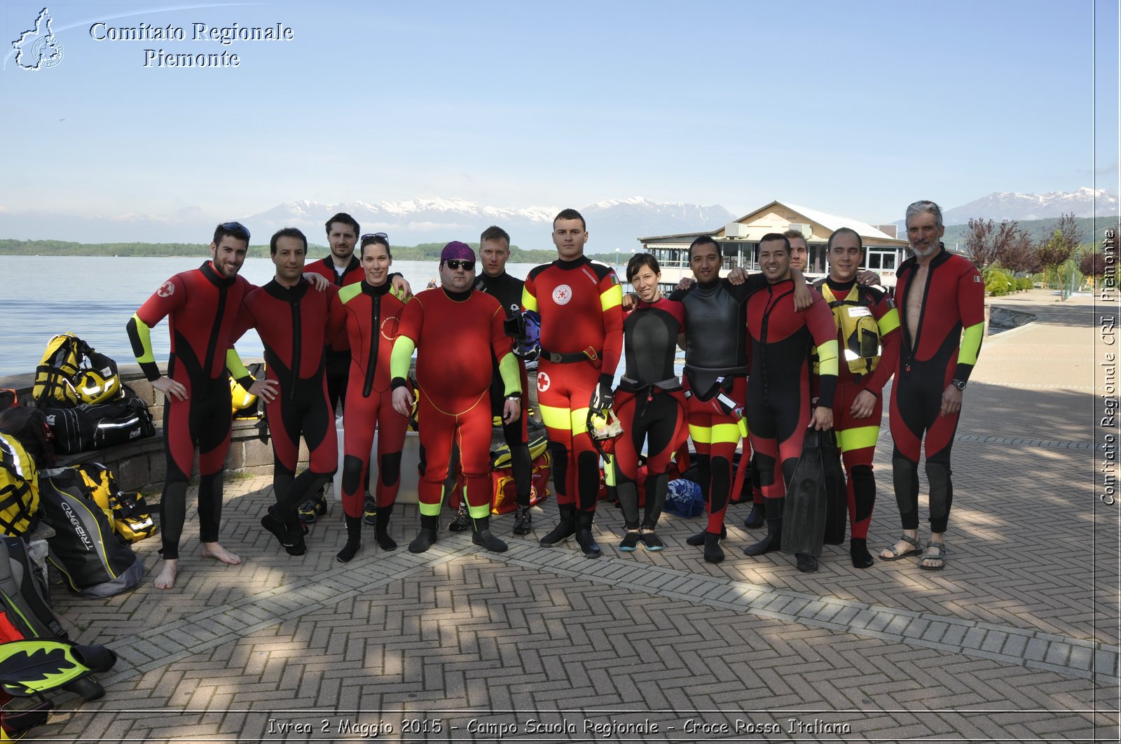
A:
MULTIPOLYGON (((907 329, 907 296, 918 270, 912 257, 896 275, 896 306, 902 340, 891 390, 891 438, 896 501, 905 530, 918 529, 918 461, 926 435, 930 531, 945 532, 954 497, 949 450, 958 413, 942 416, 942 394, 953 380, 969 381, 984 336, 984 281, 973 262, 939 247, 927 269, 918 333, 907 329)), ((887 361, 887 360, 884 360, 887 361)))

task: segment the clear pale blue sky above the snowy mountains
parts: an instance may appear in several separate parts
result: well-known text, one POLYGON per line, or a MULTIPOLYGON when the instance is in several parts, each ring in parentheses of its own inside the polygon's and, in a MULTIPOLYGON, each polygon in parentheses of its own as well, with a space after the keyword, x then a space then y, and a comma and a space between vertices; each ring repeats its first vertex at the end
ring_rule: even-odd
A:
POLYGON ((43 4, 7 3, 0 210, 645 196, 889 222, 1095 170, 1118 190, 1117 2, 689 4, 50 3, 64 56, 28 72, 11 41, 43 4), (98 41, 98 21, 187 40, 98 41), (194 22, 295 39, 194 41, 194 22), (145 48, 241 64, 145 67, 145 48))

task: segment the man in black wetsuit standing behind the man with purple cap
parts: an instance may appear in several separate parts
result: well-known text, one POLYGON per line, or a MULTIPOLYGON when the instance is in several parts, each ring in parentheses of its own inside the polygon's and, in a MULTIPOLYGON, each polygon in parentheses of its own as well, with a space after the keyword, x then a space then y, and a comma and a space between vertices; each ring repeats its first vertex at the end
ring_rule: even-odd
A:
MULTIPOLYGON (((494 297, 506 310, 507 318, 520 315, 521 290, 526 282, 521 279, 515 279, 506 272, 506 262, 510 260, 510 235, 497 225, 484 230, 479 236, 479 258, 483 270, 475 280, 475 289, 494 297)), ((502 383, 502 376, 499 374, 498 360, 491 361, 494 368, 490 390, 491 416, 497 416, 501 420, 502 407, 506 404, 506 388, 502 383)), ((518 369, 521 374, 521 389, 528 391, 526 363, 520 359, 518 360, 518 369)), ((527 401, 528 393, 521 397, 519 420, 512 424, 502 424, 502 437, 510 447, 510 469, 513 472, 513 485, 517 492, 518 508, 513 513, 515 534, 529 534, 534 529, 529 511, 532 463, 529 457, 526 428, 526 421, 529 418, 527 401)), ((460 511, 448 529, 465 530, 469 527, 471 527, 471 517, 467 514, 467 504, 464 501, 460 504, 460 511)))

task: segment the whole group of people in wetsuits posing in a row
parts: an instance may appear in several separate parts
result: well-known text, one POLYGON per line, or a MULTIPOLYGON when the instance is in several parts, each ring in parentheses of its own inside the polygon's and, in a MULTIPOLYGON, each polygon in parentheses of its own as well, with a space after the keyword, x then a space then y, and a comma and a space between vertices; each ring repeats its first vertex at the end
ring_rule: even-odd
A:
MULTIPOLYGON (((892 466, 904 532, 880 558, 921 555, 924 569, 945 565, 943 536, 953 495, 949 449, 962 391, 980 350, 984 286, 971 262, 942 247, 942 214, 934 203, 908 207, 914 257, 897 275, 898 308, 884 291, 862 283, 876 280, 874 275, 858 277, 863 247, 849 229, 830 236, 830 275, 814 287, 800 272, 806 255, 802 233, 765 235, 759 242, 760 273, 733 269, 724 278, 719 242, 701 235, 689 247, 693 282, 664 297, 657 260, 641 253, 627 267, 636 294, 624 298, 615 272, 584 255, 589 232, 574 210, 554 220, 557 260, 531 270, 525 282, 506 273, 510 238, 495 226, 481 235, 479 257, 465 243, 448 243, 439 260, 441 286, 415 297, 399 275, 390 273, 385 233, 359 238, 356 221, 344 213, 325 226, 332 253, 309 266, 300 231, 285 229, 272 235, 276 276, 263 287, 252 287, 238 276, 249 231, 223 223, 214 232, 212 260, 169 279, 129 322, 137 360, 166 398, 164 568, 157 587, 175 583, 196 447, 203 555, 240 561, 217 541, 222 467, 230 443, 226 371, 266 402, 276 503, 261 524, 289 554, 305 551, 307 524, 325 511, 323 487, 337 465, 336 406, 343 411, 346 522, 340 561, 350 561, 360 550, 363 523, 376 528, 381 549, 397 547, 388 526, 413 416, 420 434, 421 472, 420 529, 410 551, 423 552, 438 539, 453 445, 464 481, 460 529, 470 527, 473 541, 487 550, 507 549, 490 524, 494 417, 511 449, 513 532, 531 532, 528 380, 524 361, 513 353, 516 347, 525 351, 524 343, 516 343, 525 314, 536 314, 540 324, 535 381, 559 510, 559 521, 540 538, 541 546, 575 538, 585 557, 601 555, 592 521, 605 468, 624 520, 619 549, 663 549, 656 528, 669 472, 692 438, 707 521, 686 542, 703 547, 706 561, 723 560, 720 543, 726 537, 728 505, 734 495, 750 491, 752 510, 744 526, 766 526, 767 533, 743 552, 776 550, 781 547, 786 484, 806 431, 832 428, 847 476, 852 562, 867 568, 874 564, 867 548, 876 497, 871 461, 882 390, 895 373, 892 466), (172 335, 166 375, 150 344, 150 328, 164 317, 169 318, 172 335), (267 372, 260 380, 249 375, 233 348, 251 327, 265 345, 267 372), (626 369, 615 388, 624 347, 626 369), (678 347, 685 351, 680 379, 674 366, 678 347), (621 422, 621 434, 599 426, 611 412, 621 422), (367 484, 376 430, 378 475, 371 496, 367 484), (613 454, 608 456, 601 437, 612 435, 613 454), (296 475, 300 437, 309 462, 307 471, 296 475), (932 528, 925 551, 917 536, 924 437, 932 528), (741 443, 735 469, 733 455, 741 443)), ((803 571, 817 568, 816 558, 807 554, 798 554, 797 562, 803 571)))

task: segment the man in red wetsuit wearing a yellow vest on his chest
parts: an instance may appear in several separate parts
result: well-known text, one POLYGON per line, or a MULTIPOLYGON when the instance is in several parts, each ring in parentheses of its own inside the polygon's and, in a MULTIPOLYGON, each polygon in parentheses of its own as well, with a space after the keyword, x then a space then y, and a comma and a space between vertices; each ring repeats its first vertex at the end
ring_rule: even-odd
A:
POLYGON ((860 283, 856 275, 864 245, 855 230, 840 227, 830 235, 826 255, 828 277, 814 287, 833 308, 844 356, 833 398, 833 428, 849 476, 849 554, 853 567, 869 568, 876 562, 868 551, 868 528, 876 504, 872 456, 883 418, 881 393, 899 354, 899 313, 887 292, 860 283))

